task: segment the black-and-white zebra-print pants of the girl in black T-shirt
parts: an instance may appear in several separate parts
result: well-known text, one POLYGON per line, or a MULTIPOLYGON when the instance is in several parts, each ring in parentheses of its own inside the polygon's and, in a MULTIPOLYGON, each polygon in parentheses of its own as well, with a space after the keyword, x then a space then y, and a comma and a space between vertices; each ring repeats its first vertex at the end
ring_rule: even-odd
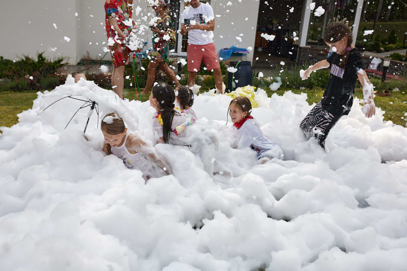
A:
POLYGON ((330 129, 339 121, 341 116, 335 116, 322 108, 321 102, 317 103, 301 121, 300 128, 305 139, 311 136, 318 140, 319 145, 325 150, 325 139, 330 129))

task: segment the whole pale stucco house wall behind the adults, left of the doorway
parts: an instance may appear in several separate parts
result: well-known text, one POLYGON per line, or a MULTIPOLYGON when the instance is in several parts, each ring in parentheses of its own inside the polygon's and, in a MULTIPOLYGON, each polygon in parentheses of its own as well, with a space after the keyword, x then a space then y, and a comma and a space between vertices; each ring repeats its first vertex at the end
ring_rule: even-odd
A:
MULTIPOLYGON (((231 6, 226 6, 229 1, 211 2, 214 14, 221 15, 215 17, 214 30, 214 44, 218 55, 221 48, 232 45, 241 48, 254 47, 259 2, 234 0, 230 1, 231 6), (226 10, 229 12, 226 13, 226 10), (243 34, 242 42, 236 39, 240 34, 243 34), (223 36, 223 39, 219 36, 223 36)), ((173 1, 170 0, 171 2, 173 1)), ((45 51, 46 56, 51 59, 59 55, 70 56, 70 64, 79 62, 87 51, 92 58, 98 54, 103 56, 105 54, 103 47, 107 46, 106 43, 102 45, 103 41, 107 41, 104 3, 104 0, 2 1, 3 10, 11 11, 18 7, 18 15, 7 12, 0 17, 3 26, 0 28, 2 37, 0 55, 6 59, 17 60, 16 54, 35 56, 37 51, 45 51), (75 12, 78 16, 74 15, 75 12), (57 29, 54 28, 54 23, 57 29), (69 37, 70 42, 66 42, 64 36, 69 37), (57 49, 53 51, 52 48, 57 49)), ((153 10, 147 7, 146 0, 134 0, 133 4, 134 9, 138 5, 143 9, 138 16, 133 15, 135 20, 146 16, 147 13, 153 13, 153 10)), ((147 22, 143 20, 142 23, 148 24, 153 16, 154 14, 151 14, 147 22)), ((148 41, 148 47, 151 48, 151 31, 143 38, 148 41)), ((252 61, 252 58, 253 51, 247 56, 247 60, 252 61)), ((104 59, 111 60, 110 54, 108 53, 104 59)))

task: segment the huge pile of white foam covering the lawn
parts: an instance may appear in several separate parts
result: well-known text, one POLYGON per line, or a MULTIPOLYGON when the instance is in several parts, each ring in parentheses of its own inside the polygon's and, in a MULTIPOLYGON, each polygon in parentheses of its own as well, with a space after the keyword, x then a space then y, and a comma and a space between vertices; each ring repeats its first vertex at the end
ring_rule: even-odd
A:
MULTIPOLYGON (((80 80, 53 93, 93 95, 105 114, 98 90, 80 80)), ((407 128, 383 123, 379 108, 366 119, 355 99, 325 154, 299 135, 313 106, 306 94, 258 90, 252 115, 286 160, 255 165, 252 150, 230 148, 231 97, 201 94, 193 108, 218 132, 216 159, 233 178, 212 179, 188 147, 159 144, 173 175, 144 184, 103 154, 95 122, 85 140, 89 107, 59 132, 36 113, 42 96, 1 128, 0 270, 405 270, 407 128)), ((124 104, 152 139, 149 102, 124 104)), ((61 121, 71 107, 58 111, 61 121)))

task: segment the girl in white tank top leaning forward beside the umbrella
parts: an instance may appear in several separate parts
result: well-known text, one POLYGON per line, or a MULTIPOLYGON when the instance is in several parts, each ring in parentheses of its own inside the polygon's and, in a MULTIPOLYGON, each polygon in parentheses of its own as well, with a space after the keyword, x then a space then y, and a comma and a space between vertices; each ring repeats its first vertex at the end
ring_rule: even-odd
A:
POLYGON ((171 169, 162 156, 155 152, 151 143, 147 143, 137 134, 127 134, 125 123, 116 112, 105 115, 101 122, 105 137, 103 151, 123 160, 129 169, 139 169, 147 182, 150 178, 171 174, 171 169), (165 173, 164 173, 165 172, 165 173))

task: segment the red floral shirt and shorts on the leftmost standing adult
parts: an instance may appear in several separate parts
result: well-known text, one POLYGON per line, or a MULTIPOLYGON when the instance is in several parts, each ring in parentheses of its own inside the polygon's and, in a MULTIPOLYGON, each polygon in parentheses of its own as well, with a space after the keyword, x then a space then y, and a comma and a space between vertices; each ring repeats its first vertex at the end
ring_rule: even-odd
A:
POLYGON ((105 11, 107 44, 112 54, 113 65, 114 67, 123 66, 129 59, 130 50, 126 47, 123 38, 115 33, 109 18, 116 18, 120 30, 127 36, 131 31, 131 24, 128 23, 130 26, 127 26, 124 21, 133 20, 133 0, 106 0, 105 11))

